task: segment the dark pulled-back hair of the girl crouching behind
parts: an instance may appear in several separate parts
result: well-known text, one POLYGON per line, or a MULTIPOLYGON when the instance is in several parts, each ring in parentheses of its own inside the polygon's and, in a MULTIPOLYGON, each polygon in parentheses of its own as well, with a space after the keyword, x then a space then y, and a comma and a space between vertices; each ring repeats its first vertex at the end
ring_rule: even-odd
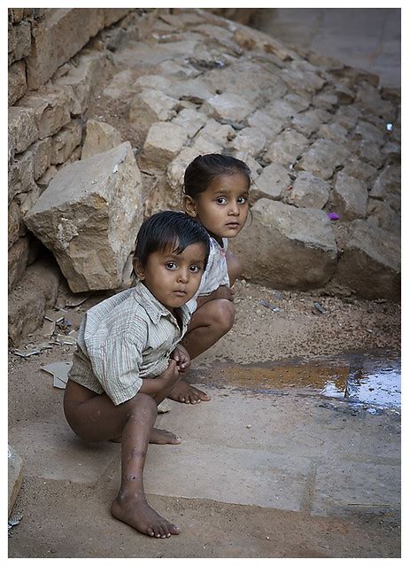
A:
POLYGON ((184 176, 185 194, 191 198, 204 192, 215 177, 222 174, 243 173, 251 182, 251 170, 244 161, 221 153, 198 155, 186 168, 184 176))

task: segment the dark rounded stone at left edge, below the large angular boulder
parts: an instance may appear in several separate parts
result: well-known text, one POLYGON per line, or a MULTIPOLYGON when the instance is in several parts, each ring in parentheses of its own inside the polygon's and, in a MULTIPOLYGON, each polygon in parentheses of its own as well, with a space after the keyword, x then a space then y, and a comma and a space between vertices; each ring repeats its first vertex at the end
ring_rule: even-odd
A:
POLYGON ((12 345, 42 325, 44 312, 54 306, 60 272, 54 262, 36 261, 27 267, 9 295, 9 337, 12 345), (27 292, 29 290, 29 292, 27 292))

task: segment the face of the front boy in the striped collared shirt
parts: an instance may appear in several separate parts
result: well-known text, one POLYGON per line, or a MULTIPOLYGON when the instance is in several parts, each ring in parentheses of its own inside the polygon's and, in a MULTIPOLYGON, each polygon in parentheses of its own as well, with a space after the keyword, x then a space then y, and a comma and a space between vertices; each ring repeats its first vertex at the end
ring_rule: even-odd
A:
POLYGON ((183 252, 170 248, 153 252, 143 267, 135 260, 135 273, 152 295, 170 311, 191 299, 204 271, 205 245, 188 245, 183 252))

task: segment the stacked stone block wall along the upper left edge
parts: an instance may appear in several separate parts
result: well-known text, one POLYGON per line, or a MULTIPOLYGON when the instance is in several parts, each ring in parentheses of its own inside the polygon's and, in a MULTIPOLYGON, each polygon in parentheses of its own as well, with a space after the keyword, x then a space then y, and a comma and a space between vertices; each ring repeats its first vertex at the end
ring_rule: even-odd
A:
MULTIPOLYGON (((24 215, 57 171, 81 157, 89 101, 131 12, 121 9, 9 9, 9 290, 36 258, 24 215), (111 26, 111 27, 110 27, 111 26)), ((141 19, 141 30, 149 14, 141 19)), ((142 33, 142 32, 141 32, 142 33)))

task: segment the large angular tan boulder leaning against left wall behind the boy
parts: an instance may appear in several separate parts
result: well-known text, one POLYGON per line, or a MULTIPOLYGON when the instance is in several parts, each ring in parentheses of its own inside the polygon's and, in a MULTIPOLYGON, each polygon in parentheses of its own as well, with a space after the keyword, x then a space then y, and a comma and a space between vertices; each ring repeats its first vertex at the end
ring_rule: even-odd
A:
POLYGON ((120 286, 142 220, 141 174, 129 142, 60 169, 25 217, 73 292, 120 286))

